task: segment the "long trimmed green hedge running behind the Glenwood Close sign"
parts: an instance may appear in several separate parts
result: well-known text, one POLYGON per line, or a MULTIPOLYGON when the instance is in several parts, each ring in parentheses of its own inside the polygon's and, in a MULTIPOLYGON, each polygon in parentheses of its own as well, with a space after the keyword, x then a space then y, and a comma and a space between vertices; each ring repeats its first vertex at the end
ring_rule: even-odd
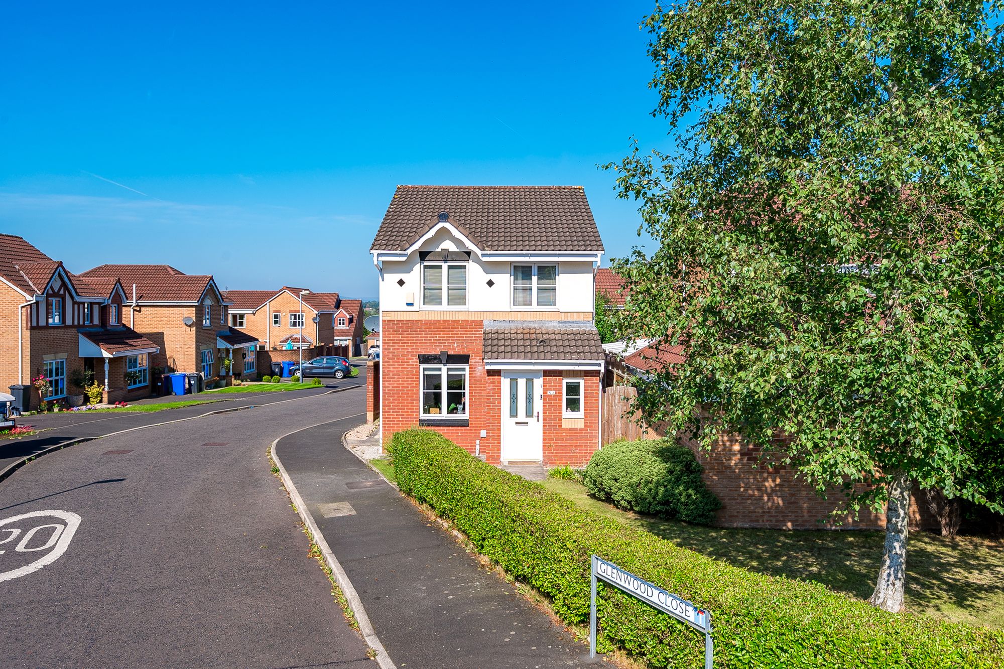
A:
MULTIPOLYGON (((401 489, 456 523, 506 572, 551 598, 569 623, 589 616, 596 553, 712 613, 716 667, 1001 667, 1004 633, 894 616, 822 586, 752 574, 583 511, 487 465, 430 430, 391 444, 401 489)), ((704 639, 600 586, 599 650, 654 667, 703 666, 704 639)))

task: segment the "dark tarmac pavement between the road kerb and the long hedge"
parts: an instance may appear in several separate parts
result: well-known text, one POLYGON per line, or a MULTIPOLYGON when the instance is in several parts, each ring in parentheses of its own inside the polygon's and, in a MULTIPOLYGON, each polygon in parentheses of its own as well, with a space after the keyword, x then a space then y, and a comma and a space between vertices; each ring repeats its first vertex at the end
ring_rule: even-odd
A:
POLYGON ((402 668, 576 667, 588 647, 468 554, 341 445, 358 420, 276 445, 391 659, 402 668))

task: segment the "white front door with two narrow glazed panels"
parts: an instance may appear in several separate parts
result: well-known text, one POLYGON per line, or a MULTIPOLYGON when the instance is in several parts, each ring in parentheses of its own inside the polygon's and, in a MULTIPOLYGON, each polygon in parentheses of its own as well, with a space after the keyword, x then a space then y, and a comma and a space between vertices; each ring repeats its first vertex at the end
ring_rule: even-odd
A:
POLYGON ((502 373, 502 460, 544 458, 542 372, 502 373))

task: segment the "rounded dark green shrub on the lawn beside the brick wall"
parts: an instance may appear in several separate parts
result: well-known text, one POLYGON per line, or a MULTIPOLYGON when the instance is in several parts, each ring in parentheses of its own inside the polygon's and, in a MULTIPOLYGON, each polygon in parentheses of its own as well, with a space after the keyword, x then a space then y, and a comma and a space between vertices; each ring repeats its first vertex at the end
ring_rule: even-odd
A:
POLYGON ((709 524, 722 503, 701 471, 689 448, 667 439, 618 441, 592 454, 582 482, 619 508, 709 524))

